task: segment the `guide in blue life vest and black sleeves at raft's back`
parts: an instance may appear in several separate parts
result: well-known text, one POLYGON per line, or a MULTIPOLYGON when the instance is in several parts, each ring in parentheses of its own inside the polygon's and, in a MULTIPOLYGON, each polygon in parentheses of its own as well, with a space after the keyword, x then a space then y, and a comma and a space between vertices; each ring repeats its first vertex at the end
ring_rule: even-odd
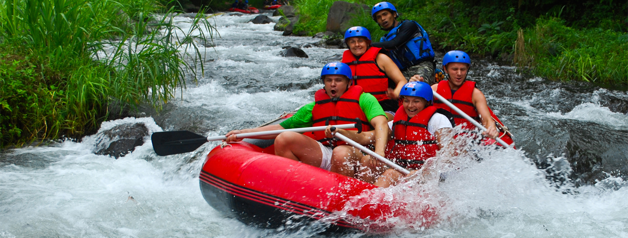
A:
POLYGON ((397 21, 397 9, 388 2, 375 4, 371 16, 381 29, 389 31, 373 46, 387 49, 409 81, 434 83, 434 50, 425 29, 416 21, 397 21))

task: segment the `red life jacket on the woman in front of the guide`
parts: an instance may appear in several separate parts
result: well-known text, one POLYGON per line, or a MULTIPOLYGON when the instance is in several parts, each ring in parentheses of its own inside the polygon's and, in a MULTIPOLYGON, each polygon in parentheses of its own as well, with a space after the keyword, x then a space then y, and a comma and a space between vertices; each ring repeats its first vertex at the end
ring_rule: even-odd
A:
POLYGON ((386 96, 388 90, 388 76, 377 66, 376 58, 381 48, 371 47, 360 56, 355 58, 350 49, 342 54, 342 63, 349 65, 353 73, 353 85, 362 86, 365 93, 371 93, 377 101, 389 100, 386 96))

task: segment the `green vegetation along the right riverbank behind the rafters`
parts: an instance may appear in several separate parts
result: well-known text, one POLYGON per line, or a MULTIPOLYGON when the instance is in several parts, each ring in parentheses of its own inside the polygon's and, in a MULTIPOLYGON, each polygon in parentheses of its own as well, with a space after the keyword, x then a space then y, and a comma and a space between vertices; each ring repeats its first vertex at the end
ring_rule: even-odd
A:
MULTIPOLYGON (((347 0, 373 6, 379 0, 347 0)), ((325 31, 334 0, 295 0, 301 18, 295 31, 325 31)), ((551 80, 582 80, 626 89, 628 9, 626 1, 448 1, 401 0, 399 19, 417 21, 440 51, 459 49, 475 57, 509 61, 551 80)), ((352 20, 374 40, 386 33, 371 13, 352 20)))

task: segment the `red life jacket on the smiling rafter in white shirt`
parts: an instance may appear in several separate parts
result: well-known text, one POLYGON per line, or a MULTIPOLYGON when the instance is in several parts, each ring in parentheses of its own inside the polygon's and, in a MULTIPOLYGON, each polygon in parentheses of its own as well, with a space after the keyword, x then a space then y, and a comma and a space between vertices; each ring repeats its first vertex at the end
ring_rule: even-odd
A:
POLYGON ((393 119, 393 141, 388 143, 386 157, 407 168, 419 169, 428 158, 436 156, 436 137, 428 132, 428 122, 436 113, 436 106, 428 106, 408 121, 408 114, 400 106, 393 119))

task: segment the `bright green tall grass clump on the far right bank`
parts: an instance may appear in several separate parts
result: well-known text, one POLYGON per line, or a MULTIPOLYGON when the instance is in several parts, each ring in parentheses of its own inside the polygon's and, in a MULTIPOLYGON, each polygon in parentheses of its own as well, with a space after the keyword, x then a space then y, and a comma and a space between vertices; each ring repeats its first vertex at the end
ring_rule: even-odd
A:
MULTIPOLYGON (((520 39, 521 41, 521 39, 520 39)), ((628 84, 628 34, 600 28, 578 30, 558 18, 539 18, 524 33, 521 65, 552 80, 628 84)))

